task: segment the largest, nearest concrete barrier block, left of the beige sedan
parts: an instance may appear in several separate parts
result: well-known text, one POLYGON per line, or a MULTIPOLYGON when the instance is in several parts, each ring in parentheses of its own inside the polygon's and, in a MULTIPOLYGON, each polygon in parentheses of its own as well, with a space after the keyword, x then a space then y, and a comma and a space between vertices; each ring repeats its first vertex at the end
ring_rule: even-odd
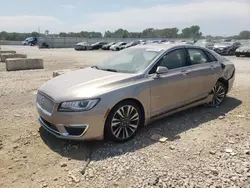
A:
POLYGON ((17 70, 29 70, 29 69, 43 69, 43 59, 7 59, 6 70, 17 71, 17 70))

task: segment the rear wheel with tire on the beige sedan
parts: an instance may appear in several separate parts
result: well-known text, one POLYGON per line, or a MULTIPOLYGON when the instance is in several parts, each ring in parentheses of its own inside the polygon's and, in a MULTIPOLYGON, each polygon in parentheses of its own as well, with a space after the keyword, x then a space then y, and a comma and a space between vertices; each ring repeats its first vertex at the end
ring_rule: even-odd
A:
POLYGON ((208 107, 218 107, 220 106, 223 101, 225 100, 226 98, 226 94, 227 94, 227 88, 225 86, 225 84, 223 84, 222 82, 218 81, 213 90, 212 90, 212 93, 213 93, 213 99, 211 102, 209 102, 207 104, 208 107))

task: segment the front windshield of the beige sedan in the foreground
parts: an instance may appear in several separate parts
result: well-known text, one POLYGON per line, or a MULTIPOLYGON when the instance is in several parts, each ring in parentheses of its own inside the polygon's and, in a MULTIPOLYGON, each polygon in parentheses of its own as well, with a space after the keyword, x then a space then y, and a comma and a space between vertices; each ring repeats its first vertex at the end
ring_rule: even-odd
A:
POLYGON ((129 48, 100 63, 97 68, 113 72, 137 73, 144 70, 161 53, 144 48, 129 48))

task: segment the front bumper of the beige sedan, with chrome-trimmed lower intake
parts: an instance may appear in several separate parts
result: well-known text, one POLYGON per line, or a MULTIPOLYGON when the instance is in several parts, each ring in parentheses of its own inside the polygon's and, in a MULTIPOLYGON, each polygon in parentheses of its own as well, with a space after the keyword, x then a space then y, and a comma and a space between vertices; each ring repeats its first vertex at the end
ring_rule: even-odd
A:
POLYGON ((51 114, 46 113, 39 104, 40 125, 58 138, 69 140, 101 140, 104 136, 105 113, 93 108, 85 112, 58 112, 55 104, 51 114))

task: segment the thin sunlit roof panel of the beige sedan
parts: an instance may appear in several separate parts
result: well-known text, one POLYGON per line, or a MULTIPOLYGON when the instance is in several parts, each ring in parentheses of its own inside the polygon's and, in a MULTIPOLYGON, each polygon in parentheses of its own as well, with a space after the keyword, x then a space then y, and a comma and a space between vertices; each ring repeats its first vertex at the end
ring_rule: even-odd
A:
POLYGON ((194 46, 194 45, 188 45, 188 44, 164 44, 164 43, 161 43, 161 44, 145 44, 145 45, 137 45, 137 46, 134 46, 132 48, 145 48, 145 49, 154 49, 154 50, 169 50, 170 48, 176 48, 176 47, 182 47, 182 48, 185 48, 185 47, 195 47, 195 48, 201 48, 199 46, 194 46))

